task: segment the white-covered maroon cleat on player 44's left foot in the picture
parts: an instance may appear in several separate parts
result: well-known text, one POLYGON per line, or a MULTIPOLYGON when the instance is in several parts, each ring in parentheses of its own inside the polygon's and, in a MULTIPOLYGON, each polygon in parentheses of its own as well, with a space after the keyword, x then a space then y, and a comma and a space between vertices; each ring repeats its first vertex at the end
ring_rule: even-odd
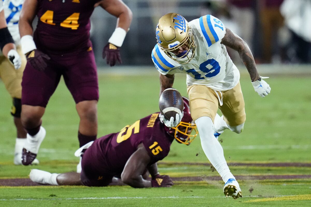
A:
POLYGON ((41 126, 39 132, 35 136, 30 136, 27 134, 27 140, 24 145, 22 156, 21 156, 21 163, 23 165, 31 164, 35 158, 37 157, 39 147, 41 142, 45 137, 46 131, 41 126))

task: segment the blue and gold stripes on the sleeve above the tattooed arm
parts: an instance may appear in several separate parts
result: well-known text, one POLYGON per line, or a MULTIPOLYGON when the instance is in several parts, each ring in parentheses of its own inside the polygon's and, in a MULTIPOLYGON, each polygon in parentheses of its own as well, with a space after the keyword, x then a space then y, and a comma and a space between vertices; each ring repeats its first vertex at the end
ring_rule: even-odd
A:
POLYGON ((213 25, 211 24, 210 15, 201 16, 199 19, 200 27, 202 30, 202 33, 207 41, 208 47, 210 47, 212 44, 218 42, 219 38, 213 28, 213 25))

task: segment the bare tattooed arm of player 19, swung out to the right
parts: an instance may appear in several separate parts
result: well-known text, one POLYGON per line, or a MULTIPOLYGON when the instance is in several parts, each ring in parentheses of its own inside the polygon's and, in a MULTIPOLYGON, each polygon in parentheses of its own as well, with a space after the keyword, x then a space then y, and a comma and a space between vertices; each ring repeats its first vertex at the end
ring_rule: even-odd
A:
POLYGON ((228 46, 239 52, 240 58, 247 68, 252 82, 260 79, 253 54, 243 39, 234 34, 230 29, 226 29, 226 34, 225 37, 221 39, 221 44, 224 44, 225 46, 228 46))

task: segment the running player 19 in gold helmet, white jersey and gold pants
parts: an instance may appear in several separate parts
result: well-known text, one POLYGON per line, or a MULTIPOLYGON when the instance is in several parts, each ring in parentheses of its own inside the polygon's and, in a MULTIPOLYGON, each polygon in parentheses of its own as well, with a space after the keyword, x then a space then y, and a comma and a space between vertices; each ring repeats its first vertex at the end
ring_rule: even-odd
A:
MULTIPOLYGON (((166 14, 156 27, 156 38, 151 57, 160 72, 160 93, 173 86, 175 73, 187 74, 190 112, 200 133, 203 151, 225 182, 225 196, 242 197, 217 139, 228 128, 241 133, 246 119, 239 70, 225 46, 239 52, 255 91, 261 97, 270 93, 265 77, 257 72, 252 52, 239 36, 211 15, 188 23, 179 14, 166 14), (221 117, 217 114, 218 108, 223 114, 221 117)), ((174 127, 182 114, 170 120, 160 118, 166 126, 174 127)))

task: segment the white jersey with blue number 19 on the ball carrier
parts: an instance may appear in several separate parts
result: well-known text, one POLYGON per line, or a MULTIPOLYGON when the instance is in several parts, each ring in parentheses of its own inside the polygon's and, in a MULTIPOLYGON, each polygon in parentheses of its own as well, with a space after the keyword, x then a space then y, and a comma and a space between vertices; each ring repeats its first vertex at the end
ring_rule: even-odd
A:
POLYGON ((179 64, 167 56, 156 44, 152 61, 157 70, 165 74, 186 73, 187 85, 206 85, 216 91, 234 88, 240 73, 229 57, 226 47, 220 44, 225 26, 214 16, 206 15, 188 23, 194 33, 197 49, 193 59, 179 64))

